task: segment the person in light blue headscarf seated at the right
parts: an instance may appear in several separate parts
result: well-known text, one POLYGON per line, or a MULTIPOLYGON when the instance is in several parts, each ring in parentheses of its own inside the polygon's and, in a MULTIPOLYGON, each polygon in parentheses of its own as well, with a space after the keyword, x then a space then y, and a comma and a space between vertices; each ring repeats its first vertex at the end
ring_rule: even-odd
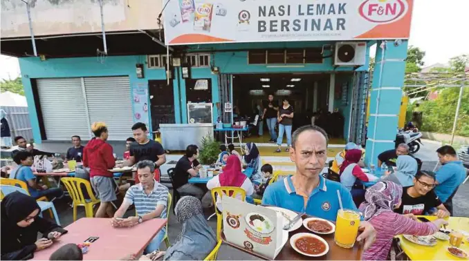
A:
POLYGON ((397 157, 397 171, 390 173, 385 172, 383 180, 390 180, 401 186, 414 186, 414 177, 417 173, 417 161, 409 155, 400 155, 397 157))

